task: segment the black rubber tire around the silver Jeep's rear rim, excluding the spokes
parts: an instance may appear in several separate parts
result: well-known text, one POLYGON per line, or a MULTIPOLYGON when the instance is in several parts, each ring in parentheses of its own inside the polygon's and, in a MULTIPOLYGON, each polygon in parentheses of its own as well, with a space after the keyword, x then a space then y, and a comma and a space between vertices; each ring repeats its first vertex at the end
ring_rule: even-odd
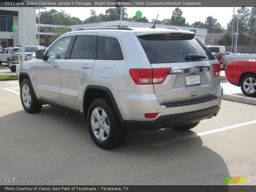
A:
MULTIPOLYGON (((100 114, 100 110, 98 111, 98 113, 100 114)), ((100 116, 103 116, 102 110, 101 110, 100 116)), ((101 117, 100 117, 100 121, 101 121, 101 117)), ((92 137, 92 140, 100 148, 110 149, 110 148, 118 147, 124 142, 124 140, 126 138, 127 131, 120 124, 120 122, 116 116, 116 112, 115 112, 111 102, 107 98, 98 98, 91 102, 89 109, 88 109, 88 113, 87 113, 87 123, 88 123, 88 129, 89 129, 89 133, 92 137), (99 126, 102 125, 103 134, 106 135, 106 138, 107 138, 106 140, 100 140, 96 137, 98 130, 99 130, 98 136, 100 136, 101 128, 96 128, 98 130, 95 129, 94 131, 92 130, 92 121, 95 120, 95 123, 97 123, 96 116, 95 117, 92 116, 92 112, 99 108, 103 109, 104 112, 107 114, 105 124, 108 123, 109 134, 107 135, 107 132, 105 132, 105 129, 103 129, 102 124, 104 124, 104 120, 102 120, 102 122, 100 124, 99 123, 97 124, 99 126)))

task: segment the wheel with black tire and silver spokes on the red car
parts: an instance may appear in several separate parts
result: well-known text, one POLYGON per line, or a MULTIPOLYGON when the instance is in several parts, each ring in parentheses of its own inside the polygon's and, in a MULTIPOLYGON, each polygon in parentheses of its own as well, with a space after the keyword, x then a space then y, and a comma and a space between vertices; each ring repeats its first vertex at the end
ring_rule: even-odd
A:
POLYGON ((252 84, 256 84, 256 75, 254 74, 248 74, 246 76, 244 76, 241 80, 241 90, 242 92, 249 96, 249 97, 255 97, 256 96, 256 85, 252 85, 252 84), (250 78, 251 78, 251 82, 250 82, 250 78), (247 85, 246 85, 247 84, 247 85), (252 85, 252 87, 250 87, 252 85), (246 91, 246 89, 248 89, 246 91))

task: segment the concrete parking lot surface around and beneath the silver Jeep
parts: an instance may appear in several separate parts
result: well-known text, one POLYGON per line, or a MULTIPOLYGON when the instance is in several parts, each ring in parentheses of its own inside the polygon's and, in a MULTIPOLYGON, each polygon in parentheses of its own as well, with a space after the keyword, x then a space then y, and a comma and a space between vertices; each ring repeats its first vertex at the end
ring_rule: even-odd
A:
POLYGON ((62 185, 222 185, 248 177, 244 185, 256 185, 255 105, 223 100, 218 116, 190 131, 128 132, 111 150, 93 143, 76 113, 48 105, 26 113, 18 81, 0 82, 0 106, 1 185, 6 177, 62 185))

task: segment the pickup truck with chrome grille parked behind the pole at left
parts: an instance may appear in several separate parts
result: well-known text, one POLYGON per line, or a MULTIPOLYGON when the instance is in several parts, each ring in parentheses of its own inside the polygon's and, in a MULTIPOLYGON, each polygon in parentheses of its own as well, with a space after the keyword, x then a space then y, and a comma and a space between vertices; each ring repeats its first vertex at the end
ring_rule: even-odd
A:
MULTIPOLYGON (((35 57, 35 52, 38 49, 46 50, 44 46, 25 46, 25 61, 32 60, 35 57)), ((21 47, 17 50, 18 53, 12 54, 8 61, 11 71, 16 71, 16 65, 21 64, 21 47)))

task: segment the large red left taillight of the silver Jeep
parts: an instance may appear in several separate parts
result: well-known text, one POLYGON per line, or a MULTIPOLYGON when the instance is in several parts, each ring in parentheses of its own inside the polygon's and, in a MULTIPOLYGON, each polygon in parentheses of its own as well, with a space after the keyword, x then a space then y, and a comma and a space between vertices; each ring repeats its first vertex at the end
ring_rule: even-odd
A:
POLYGON ((172 68, 130 69, 135 84, 161 84, 172 68))

